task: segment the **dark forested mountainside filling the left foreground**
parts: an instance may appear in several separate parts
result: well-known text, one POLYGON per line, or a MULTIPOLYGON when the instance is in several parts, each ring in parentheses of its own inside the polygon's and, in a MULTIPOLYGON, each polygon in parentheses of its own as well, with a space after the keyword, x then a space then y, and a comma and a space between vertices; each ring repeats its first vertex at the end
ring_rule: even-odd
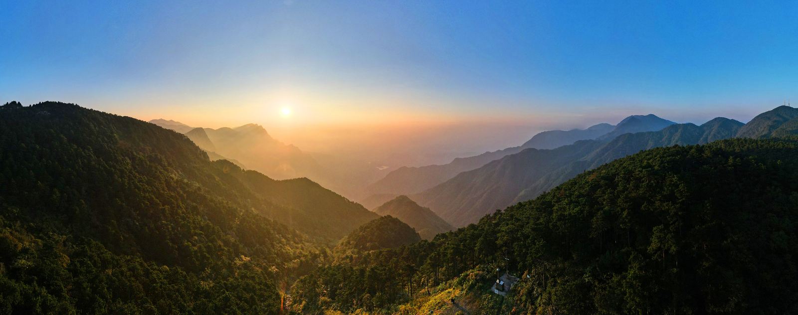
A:
POLYGON ((277 313, 313 266, 184 135, 74 104, 0 107, 0 309, 277 313))

